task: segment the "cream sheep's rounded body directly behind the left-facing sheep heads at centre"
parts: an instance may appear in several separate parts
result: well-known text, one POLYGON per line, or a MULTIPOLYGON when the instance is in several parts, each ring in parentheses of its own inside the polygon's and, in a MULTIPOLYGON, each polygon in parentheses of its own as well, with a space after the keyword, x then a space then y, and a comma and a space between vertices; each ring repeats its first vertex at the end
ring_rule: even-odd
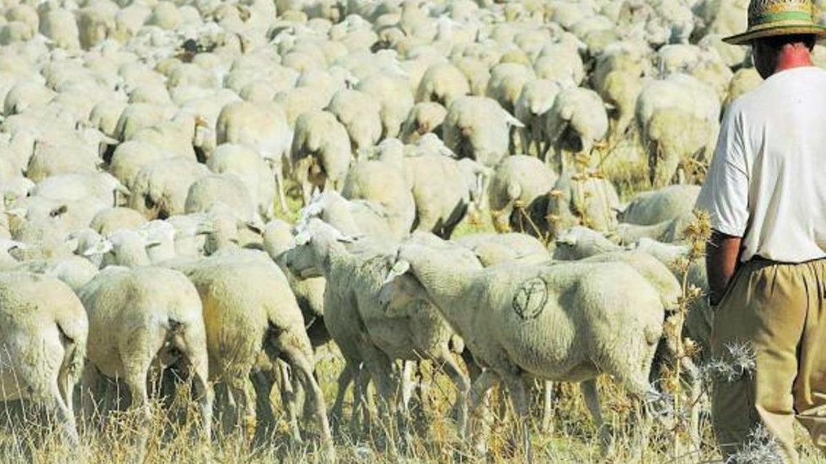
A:
POLYGON ((404 176, 403 166, 388 161, 359 161, 344 179, 341 195, 380 206, 390 230, 396 239, 402 239, 410 233, 416 213, 415 198, 404 176))

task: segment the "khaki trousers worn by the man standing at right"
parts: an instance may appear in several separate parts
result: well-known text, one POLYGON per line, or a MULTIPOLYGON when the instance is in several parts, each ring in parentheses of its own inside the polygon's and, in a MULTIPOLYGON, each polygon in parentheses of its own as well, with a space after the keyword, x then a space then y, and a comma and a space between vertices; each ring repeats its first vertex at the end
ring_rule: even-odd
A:
POLYGON ((738 269, 714 314, 714 360, 750 346, 756 368, 714 382, 714 434, 724 457, 748 443, 759 424, 776 438, 786 463, 797 463, 793 424, 826 449, 826 260, 752 261, 738 269))

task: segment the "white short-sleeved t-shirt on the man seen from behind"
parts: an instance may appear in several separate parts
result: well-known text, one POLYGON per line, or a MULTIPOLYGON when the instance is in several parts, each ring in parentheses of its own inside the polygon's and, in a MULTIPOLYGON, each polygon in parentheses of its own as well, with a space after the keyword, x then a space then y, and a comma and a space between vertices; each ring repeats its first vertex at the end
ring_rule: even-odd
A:
POLYGON ((697 207, 743 237, 743 262, 826 257, 826 71, 782 71, 733 102, 697 207))

